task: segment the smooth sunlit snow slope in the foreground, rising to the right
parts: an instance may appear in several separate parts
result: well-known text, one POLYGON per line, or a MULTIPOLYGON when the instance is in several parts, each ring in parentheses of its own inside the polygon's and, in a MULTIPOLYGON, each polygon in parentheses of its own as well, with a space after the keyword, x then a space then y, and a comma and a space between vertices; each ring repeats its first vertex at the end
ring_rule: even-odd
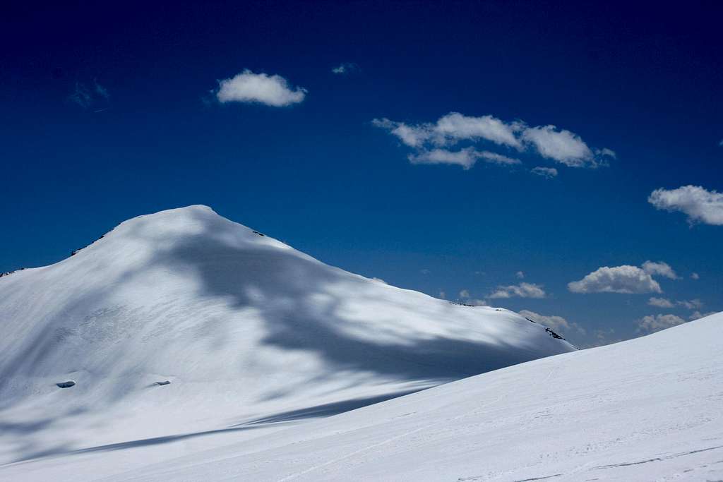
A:
POLYGON ((719 313, 111 480, 720 481, 722 343, 719 313))

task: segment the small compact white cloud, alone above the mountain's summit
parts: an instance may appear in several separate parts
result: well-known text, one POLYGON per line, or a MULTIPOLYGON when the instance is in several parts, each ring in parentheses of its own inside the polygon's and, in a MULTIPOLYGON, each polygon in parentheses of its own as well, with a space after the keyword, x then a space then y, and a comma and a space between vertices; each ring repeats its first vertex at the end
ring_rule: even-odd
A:
POLYGON ((291 87, 280 75, 254 74, 244 70, 231 79, 218 82, 216 98, 221 103, 262 103, 267 106, 291 106, 304 100, 307 90, 291 87))

